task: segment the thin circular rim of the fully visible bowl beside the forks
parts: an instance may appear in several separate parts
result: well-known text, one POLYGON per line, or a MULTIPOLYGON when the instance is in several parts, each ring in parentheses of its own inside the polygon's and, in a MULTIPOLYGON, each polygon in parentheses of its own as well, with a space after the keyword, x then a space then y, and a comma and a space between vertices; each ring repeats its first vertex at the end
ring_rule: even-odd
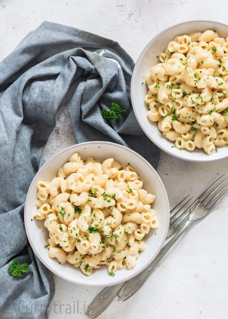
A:
MULTIPOLYGON (((48 263, 46 263, 41 254, 35 249, 34 245, 33 245, 33 242, 31 241, 31 237, 30 237, 30 234, 29 234, 29 230, 28 230, 28 225, 27 225, 27 219, 26 219, 26 216, 27 216, 27 212, 28 212, 28 198, 30 196, 30 193, 31 193, 31 189, 33 187, 33 184, 35 183, 35 179, 36 177, 40 174, 40 172, 52 161, 52 159, 56 158, 57 156, 59 156, 60 154, 74 148, 75 146, 84 146, 84 145, 91 145, 91 144, 109 144, 109 145, 115 145, 115 146, 118 146, 120 148, 123 148, 129 152, 132 152, 133 154, 135 154, 137 157, 139 157, 142 161, 145 162, 145 164, 147 164, 150 169, 152 169, 152 171, 155 173, 156 177, 158 178, 158 181, 160 182, 161 184, 161 187, 162 187, 162 190, 163 190, 163 193, 164 193, 164 199, 166 200, 166 209, 167 211, 169 212, 170 211, 170 208, 169 208, 169 198, 168 198, 168 195, 167 195, 167 192, 166 192, 166 189, 165 189, 165 186, 160 178, 160 176, 158 175, 158 173, 156 172, 155 168, 146 160, 144 159, 140 154, 138 154, 137 152, 133 151, 132 149, 126 147, 126 146, 123 146, 123 145, 120 145, 120 144, 117 144, 117 143, 113 143, 113 142, 105 142, 105 141, 91 141, 91 142, 83 142, 83 143, 78 143, 78 144, 74 144, 74 145, 71 145, 61 151, 59 151, 58 153, 56 153, 54 156, 52 156, 49 160, 47 160, 45 162, 45 164, 38 170, 38 172, 35 174, 35 176, 33 177, 32 179, 32 182, 29 186, 29 189, 28 189, 28 192, 27 192, 27 195, 26 195, 26 199, 25 199, 25 205, 24 205, 24 226, 25 226, 25 232, 26 232, 26 235, 27 235, 27 238, 28 238, 28 241, 31 245, 31 248, 34 252, 34 254, 38 257, 38 259, 43 263, 43 265, 45 265, 45 267, 47 269, 49 269, 50 271, 52 271, 55 275, 57 275, 58 277, 60 278, 63 278, 65 279, 66 281, 69 281, 69 282, 72 282, 74 284, 77 284, 77 285, 83 285, 83 286, 104 286, 104 284, 91 284, 91 283, 85 283, 85 282, 80 282, 80 281, 75 281, 75 280, 71 280, 70 278, 65 278, 64 275, 62 274, 59 274, 55 269, 52 268, 52 266, 50 266, 48 263)), ((166 224, 166 229, 165 229, 165 233, 164 233, 164 236, 162 238, 162 241, 159 245, 159 247, 157 248, 156 250, 156 253, 155 255, 153 256, 153 259, 149 259, 149 261, 147 263, 144 264, 144 266, 139 270, 137 271, 134 275, 131 275, 129 274, 129 276, 125 279, 121 279, 121 280, 116 280, 114 281, 113 283, 109 283, 107 286, 113 286, 113 285, 117 285, 117 284, 120 284, 121 282, 124 282, 124 281, 127 281, 135 276, 137 276, 139 273, 141 273, 146 267, 149 266, 150 263, 152 263, 152 261, 156 258, 156 256, 158 255, 158 253, 160 252, 160 250, 162 249, 162 246, 164 244, 164 241, 166 239, 166 236, 167 236, 167 233, 168 233, 168 229, 169 229, 169 219, 170 219, 170 215, 168 213, 168 216, 167 216, 167 224, 166 224)))

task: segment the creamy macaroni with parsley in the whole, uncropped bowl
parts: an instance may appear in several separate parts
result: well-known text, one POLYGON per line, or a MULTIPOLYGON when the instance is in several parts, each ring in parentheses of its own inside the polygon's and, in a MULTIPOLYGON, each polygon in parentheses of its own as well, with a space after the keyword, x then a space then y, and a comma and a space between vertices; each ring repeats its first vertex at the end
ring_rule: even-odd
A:
POLYGON ((143 238, 158 226, 151 208, 155 195, 128 163, 105 161, 78 153, 60 167, 51 182, 39 181, 35 219, 45 219, 51 258, 79 267, 85 275, 106 264, 110 276, 133 269, 143 238))

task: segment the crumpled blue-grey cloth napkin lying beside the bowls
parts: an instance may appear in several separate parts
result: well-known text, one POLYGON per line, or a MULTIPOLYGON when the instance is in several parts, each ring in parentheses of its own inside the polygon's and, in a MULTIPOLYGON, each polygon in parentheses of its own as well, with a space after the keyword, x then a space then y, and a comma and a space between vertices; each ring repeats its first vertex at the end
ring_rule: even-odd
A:
MULTIPOLYGON (((24 201, 56 111, 69 88, 69 113, 78 143, 111 141, 157 166, 159 151, 143 134, 130 102, 134 62, 117 42, 44 22, 0 63, 0 313, 1 318, 47 318, 54 293, 50 272, 34 256, 24 229, 24 201), (116 102, 123 121, 106 122, 101 109, 116 102), (29 272, 9 275, 17 257, 29 272)), ((139 79, 140 83, 140 79, 139 79)))

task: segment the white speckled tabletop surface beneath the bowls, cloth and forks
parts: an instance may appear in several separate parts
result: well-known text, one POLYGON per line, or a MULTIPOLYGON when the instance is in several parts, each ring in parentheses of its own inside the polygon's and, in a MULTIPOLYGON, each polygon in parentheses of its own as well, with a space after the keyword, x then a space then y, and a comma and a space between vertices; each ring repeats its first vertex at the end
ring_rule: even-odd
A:
MULTIPOLYGON (((164 28, 190 19, 228 23, 227 11, 224 0, 0 0, 0 60, 44 20, 116 40, 136 60, 147 42, 164 28)), ((63 104, 45 147, 45 159, 75 142, 63 104)), ((158 173, 173 206, 189 193, 199 194, 218 175, 228 173, 227 160, 196 164, 162 152, 158 173)), ((115 298, 99 318, 130 319, 143 313, 147 319, 227 319, 227 204, 228 198, 190 228, 138 293, 125 302, 115 298)), ((56 292, 49 319, 84 318, 84 309, 101 288, 75 286, 56 276, 54 279, 56 292)))

